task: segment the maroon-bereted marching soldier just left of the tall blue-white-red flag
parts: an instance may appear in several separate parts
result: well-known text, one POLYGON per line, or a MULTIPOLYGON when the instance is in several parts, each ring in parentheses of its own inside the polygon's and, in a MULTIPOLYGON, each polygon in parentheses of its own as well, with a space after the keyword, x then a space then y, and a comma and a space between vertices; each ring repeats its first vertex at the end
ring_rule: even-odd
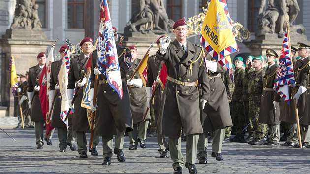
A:
MULTIPOLYGON (((75 83, 77 86, 81 87, 74 101, 74 113, 73 113, 73 120, 72 120, 72 127, 73 131, 76 132, 76 141, 78 144, 78 152, 80 154, 80 158, 87 158, 87 141, 86 141, 86 132, 90 132, 90 126, 88 124, 88 118, 86 113, 86 108, 81 107, 81 100, 83 97, 83 91, 86 84, 86 77, 81 79, 82 77, 82 69, 86 66, 89 57, 91 57, 93 52, 93 39, 90 37, 85 37, 80 42, 80 47, 83 51, 80 55, 71 58, 70 61, 70 73, 68 75, 68 102, 71 109, 72 100, 73 100, 73 92, 75 89, 75 83)), ((94 136, 93 143, 97 144, 96 142, 99 141, 99 136, 94 136)), ((95 148, 95 145, 91 149, 91 154, 93 156, 98 156, 98 152, 95 148)))

